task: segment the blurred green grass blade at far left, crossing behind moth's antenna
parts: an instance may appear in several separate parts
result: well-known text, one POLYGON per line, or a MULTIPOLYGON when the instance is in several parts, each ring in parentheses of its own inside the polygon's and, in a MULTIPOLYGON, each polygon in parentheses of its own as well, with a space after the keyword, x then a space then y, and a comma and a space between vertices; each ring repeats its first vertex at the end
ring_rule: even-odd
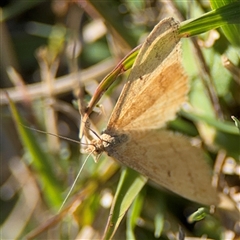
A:
POLYGON ((44 189, 44 197, 50 206, 58 210, 61 205, 61 187, 56 181, 55 174, 50 164, 48 155, 40 148, 31 130, 24 127, 24 120, 17 111, 15 104, 9 99, 12 116, 15 121, 21 142, 29 151, 32 158, 32 165, 39 177, 44 189))

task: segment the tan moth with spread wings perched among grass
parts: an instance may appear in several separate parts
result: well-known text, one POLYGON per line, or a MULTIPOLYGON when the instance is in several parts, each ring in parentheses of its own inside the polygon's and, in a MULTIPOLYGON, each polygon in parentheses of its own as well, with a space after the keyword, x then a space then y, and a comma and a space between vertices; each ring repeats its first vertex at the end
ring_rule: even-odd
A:
POLYGON ((162 20, 147 37, 106 130, 89 152, 110 157, 190 200, 217 203, 211 173, 200 149, 183 136, 160 129, 187 100, 188 77, 178 26, 162 20))

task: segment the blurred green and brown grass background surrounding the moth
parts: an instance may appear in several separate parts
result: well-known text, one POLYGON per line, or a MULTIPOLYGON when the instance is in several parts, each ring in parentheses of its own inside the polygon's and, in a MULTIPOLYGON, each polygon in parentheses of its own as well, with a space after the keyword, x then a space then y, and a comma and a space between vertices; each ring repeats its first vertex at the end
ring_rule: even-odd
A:
MULTIPOLYGON (((97 164, 90 157, 58 212, 86 155, 79 144, 21 126, 19 136, 4 91, 22 116, 18 122, 78 141, 76 100, 88 102, 99 81, 161 19, 199 17, 211 10, 210 5, 207 1, 2 1, 1 7, 2 238, 99 239, 124 167, 106 156, 97 164)), ((232 26, 230 35, 217 29, 183 40, 193 111, 180 112, 168 126, 201 140, 221 207, 211 214, 206 208, 203 219, 191 222, 188 217, 201 205, 148 182, 123 218, 116 239, 240 237, 240 139, 231 119, 240 116, 239 25, 232 26)), ((94 109, 94 131, 106 126, 127 75, 118 78, 94 109)))

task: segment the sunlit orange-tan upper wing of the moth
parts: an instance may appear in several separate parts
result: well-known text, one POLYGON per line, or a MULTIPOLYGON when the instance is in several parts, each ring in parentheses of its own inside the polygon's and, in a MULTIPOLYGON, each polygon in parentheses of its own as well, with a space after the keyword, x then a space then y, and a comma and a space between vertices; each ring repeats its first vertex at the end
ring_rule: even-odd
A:
POLYGON ((177 26, 172 18, 165 19, 143 43, 108 128, 160 128, 187 100, 188 77, 177 26))

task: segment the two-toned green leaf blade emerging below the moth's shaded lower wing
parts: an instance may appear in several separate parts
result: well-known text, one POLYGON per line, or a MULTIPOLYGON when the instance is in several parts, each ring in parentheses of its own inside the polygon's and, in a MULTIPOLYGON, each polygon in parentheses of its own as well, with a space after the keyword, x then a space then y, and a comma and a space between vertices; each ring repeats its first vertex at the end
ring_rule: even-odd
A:
POLYGON ((124 169, 114 196, 103 239, 111 239, 113 237, 122 218, 146 182, 147 178, 141 174, 130 168, 124 169))

